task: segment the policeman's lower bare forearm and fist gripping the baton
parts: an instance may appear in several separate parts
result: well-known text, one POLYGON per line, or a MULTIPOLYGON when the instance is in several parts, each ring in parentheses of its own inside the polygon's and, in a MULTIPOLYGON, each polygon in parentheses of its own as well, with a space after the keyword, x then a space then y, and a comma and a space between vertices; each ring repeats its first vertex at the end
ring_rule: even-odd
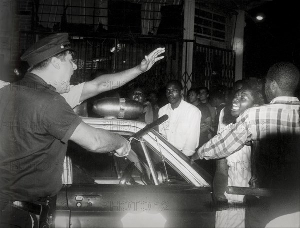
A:
POLYGON ((117 155, 124 156, 130 151, 130 143, 119 134, 91 127, 84 122, 77 126, 70 140, 96 153, 115 150, 117 155))

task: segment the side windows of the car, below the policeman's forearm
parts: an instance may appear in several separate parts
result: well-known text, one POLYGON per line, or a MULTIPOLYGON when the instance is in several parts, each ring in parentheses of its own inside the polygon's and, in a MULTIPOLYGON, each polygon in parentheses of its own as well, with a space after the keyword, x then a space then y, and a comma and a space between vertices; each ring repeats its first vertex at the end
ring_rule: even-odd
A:
POLYGON ((128 184, 190 184, 160 151, 143 140, 132 139, 127 157, 90 153, 73 142, 69 143, 67 156, 72 161, 73 183, 119 184, 124 173, 132 168, 128 184))

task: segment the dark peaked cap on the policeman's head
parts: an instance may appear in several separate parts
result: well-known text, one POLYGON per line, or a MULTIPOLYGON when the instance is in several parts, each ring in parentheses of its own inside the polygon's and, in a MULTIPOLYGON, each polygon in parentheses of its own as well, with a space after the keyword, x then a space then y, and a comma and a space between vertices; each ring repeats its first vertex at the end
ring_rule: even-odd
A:
POLYGON ((65 50, 72 50, 71 43, 68 40, 68 33, 56 33, 30 46, 21 56, 21 59, 28 62, 29 66, 32 66, 65 50))

